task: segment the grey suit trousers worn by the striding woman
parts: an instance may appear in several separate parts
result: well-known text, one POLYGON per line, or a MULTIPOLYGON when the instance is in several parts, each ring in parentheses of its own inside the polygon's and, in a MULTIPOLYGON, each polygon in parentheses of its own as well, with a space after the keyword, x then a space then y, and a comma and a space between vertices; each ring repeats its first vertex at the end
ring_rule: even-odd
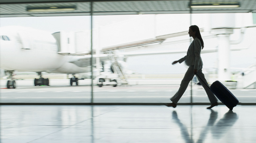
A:
MULTIPOLYGON (((197 71, 196 76, 197 77, 200 76, 200 78, 198 78, 198 80, 199 80, 200 84, 203 86, 203 88, 210 100, 210 103, 213 104, 213 103, 217 102, 218 100, 215 97, 215 95, 212 93, 210 88, 205 84, 205 83, 207 83, 207 81, 202 72, 202 68, 203 68, 203 66, 199 66, 199 70, 197 71)), ((173 103, 175 103, 175 104, 178 103, 178 101, 181 99, 181 96, 184 94, 185 90, 187 89, 189 82, 193 79, 194 76, 195 76, 194 66, 189 66, 182 81, 181 81, 179 90, 176 92, 176 94, 172 98, 170 98, 170 100, 173 103)))

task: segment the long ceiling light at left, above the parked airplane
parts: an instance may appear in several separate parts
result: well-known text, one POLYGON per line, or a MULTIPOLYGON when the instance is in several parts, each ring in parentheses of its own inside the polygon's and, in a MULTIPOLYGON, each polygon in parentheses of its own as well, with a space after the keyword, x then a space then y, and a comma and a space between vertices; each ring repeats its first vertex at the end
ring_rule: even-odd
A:
POLYGON ((75 10, 75 7, 44 7, 44 8, 27 8, 29 12, 36 12, 36 11, 69 11, 75 10))

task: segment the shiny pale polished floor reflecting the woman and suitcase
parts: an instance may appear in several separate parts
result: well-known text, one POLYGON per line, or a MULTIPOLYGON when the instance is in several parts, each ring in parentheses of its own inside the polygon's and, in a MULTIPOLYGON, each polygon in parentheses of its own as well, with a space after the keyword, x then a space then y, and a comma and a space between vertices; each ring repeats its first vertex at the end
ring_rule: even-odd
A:
POLYGON ((256 106, 2 105, 1 143, 255 143, 256 106))

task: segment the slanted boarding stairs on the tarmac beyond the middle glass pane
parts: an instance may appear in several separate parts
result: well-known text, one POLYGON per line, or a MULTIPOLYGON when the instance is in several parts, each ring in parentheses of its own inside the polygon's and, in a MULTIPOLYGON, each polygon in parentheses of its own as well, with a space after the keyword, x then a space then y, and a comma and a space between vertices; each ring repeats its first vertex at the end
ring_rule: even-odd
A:
POLYGON ((111 62, 114 72, 116 72, 118 75, 117 83, 121 83, 122 85, 128 85, 125 73, 123 72, 122 67, 118 63, 118 56, 115 54, 114 51, 106 51, 106 54, 108 54, 108 58, 111 62))

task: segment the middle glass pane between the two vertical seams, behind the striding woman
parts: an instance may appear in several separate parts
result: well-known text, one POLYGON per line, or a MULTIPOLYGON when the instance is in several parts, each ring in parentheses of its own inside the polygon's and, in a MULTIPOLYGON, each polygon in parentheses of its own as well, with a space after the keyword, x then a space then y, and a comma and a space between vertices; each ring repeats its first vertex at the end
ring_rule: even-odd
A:
MULTIPOLYGON (((101 76, 95 79, 100 87, 94 88, 94 102, 170 102, 187 69, 185 62, 172 62, 186 55, 190 45, 189 22, 189 14, 94 16, 94 27, 98 29, 94 39, 99 40, 94 41, 94 46, 103 51, 124 47, 108 52, 109 57, 100 61, 101 76), (124 77, 118 75, 116 60, 124 77), (116 66, 116 70, 112 67, 114 73, 111 65, 116 66), (114 80, 117 87, 112 85, 116 84, 114 80)), ((190 102, 190 86, 180 102, 190 102)))

